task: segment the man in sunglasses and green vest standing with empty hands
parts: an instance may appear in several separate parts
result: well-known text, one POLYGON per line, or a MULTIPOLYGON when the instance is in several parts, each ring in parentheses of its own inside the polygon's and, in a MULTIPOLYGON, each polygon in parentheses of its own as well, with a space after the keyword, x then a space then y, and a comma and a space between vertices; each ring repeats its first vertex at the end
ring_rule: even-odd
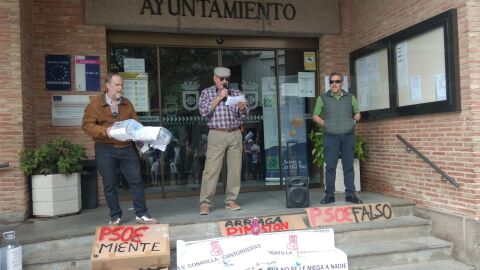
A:
POLYGON ((353 158, 355 152, 355 125, 360 121, 360 109, 356 98, 342 89, 343 75, 330 74, 330 90, 317 98, 313 121, 323 130, 323 154, 325 156, 325 197, 321 204, 335 202, 335 176, 338 157, 341 156, 345 200, 362 203, 355 195, 353 158))

